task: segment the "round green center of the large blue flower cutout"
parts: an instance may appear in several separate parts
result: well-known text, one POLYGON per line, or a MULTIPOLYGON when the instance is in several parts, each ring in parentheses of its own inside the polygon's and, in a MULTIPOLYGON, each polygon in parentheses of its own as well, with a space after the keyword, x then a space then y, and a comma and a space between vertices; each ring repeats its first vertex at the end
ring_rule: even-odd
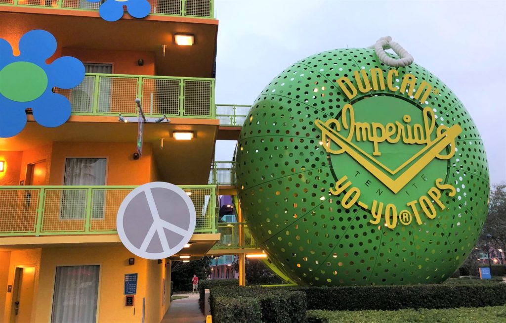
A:
POLYGON ((33 101, 47 87, 48 75, 33 63, 15 62, 0 70, 0 94, 12 101, 33 101))

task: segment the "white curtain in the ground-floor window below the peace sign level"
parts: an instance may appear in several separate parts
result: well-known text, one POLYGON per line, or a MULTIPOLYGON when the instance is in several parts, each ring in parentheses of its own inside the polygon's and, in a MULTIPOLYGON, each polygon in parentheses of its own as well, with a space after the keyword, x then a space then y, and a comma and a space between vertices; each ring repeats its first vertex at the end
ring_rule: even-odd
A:
POLYGON ((100 266, 56 267, 52 323, 95 323, 100 266))

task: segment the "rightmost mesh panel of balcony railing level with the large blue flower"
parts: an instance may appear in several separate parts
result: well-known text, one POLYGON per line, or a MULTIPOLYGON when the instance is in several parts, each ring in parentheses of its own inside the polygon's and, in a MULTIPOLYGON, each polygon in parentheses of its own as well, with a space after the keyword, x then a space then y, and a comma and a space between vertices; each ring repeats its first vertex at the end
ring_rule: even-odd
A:
POLYGON ((211 82, 185 79, 184 84, 184 115, 210 115, 211 82))

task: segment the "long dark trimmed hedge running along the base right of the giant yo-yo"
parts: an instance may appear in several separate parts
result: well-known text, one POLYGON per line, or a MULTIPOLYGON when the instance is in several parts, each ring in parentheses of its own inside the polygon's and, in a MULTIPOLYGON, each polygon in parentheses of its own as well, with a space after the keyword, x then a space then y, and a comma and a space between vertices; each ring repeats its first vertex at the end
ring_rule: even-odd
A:
POLYGON ((506 304, 506 284, 413 285, 295 288, 307 295, 308 309, 397 310, 483 307, 506 304))

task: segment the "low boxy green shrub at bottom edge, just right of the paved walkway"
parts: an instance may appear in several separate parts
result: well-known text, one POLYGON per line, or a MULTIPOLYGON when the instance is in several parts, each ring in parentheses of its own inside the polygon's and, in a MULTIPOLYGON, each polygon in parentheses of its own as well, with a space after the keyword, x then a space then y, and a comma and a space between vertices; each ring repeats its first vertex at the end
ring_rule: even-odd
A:
POLYGON ((217 297, 212 312, 215 323, 261 323, 260 301, 252 297, 217 297))

